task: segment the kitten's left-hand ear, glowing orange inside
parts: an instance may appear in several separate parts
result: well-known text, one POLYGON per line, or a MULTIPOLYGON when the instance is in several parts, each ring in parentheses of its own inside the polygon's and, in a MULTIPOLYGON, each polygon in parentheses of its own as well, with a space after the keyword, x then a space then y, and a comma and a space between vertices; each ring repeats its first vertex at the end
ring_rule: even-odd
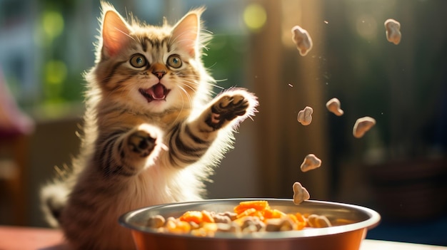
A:
POLYGON ((114 9, 107 9, 102 21, 102 53, 104 56, 115 56, 121 51, 131 33, 126 21, 114 9))

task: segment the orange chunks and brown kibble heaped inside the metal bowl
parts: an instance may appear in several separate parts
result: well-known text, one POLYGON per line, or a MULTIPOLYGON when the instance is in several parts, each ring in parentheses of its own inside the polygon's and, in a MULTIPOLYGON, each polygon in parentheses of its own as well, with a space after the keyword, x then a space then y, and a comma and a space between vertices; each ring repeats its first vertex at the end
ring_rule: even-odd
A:
MULTIPOLYGON (((301 189, 304 189, 299 182, 296 183, 301 189)), ((224 213, 206 210, 187 211, 178 218, 169 217, 167 219, 161 215, 154 215, 148 219, 147 226, 161 233, 194 236, 214 236, 216 232, 229 232, 237 235, 331 226, 331 222, 323 215, 299 212, 286 214, 278 209, 271 209, 268 202, 263 200, 240 202, 233 211, 224 213)))

